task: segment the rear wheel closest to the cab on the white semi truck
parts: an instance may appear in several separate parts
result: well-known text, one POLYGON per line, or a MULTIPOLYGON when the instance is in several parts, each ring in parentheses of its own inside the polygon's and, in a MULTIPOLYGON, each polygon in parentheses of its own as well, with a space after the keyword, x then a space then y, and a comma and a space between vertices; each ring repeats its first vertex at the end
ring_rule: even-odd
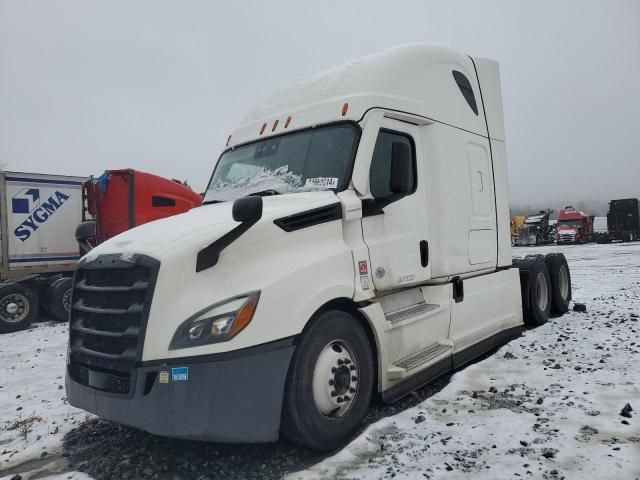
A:
POLYGON ((524 323, 530 327, 544 325, 551 313, 551 279, 543 255, 527 255, 514 259, 520 270, 520 288, 524 323))

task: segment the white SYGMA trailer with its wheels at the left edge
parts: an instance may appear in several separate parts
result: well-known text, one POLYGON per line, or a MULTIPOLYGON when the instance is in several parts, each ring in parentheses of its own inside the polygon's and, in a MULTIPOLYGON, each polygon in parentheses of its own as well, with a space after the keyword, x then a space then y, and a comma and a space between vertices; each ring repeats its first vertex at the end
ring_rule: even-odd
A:
POLYGON ((0 333, 26 328, 40 305, 67 318, 84 180, 0 172, 0 333))

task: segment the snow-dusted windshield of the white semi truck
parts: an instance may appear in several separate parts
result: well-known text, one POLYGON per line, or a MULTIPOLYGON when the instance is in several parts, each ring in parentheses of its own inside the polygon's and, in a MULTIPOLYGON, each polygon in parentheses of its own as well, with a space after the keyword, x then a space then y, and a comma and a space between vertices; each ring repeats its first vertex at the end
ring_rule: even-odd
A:
POLYGON ((246 195, 344 190, 358 137, 359 128, 344 123, 227 150, 218 160, 204 203, 246 195))

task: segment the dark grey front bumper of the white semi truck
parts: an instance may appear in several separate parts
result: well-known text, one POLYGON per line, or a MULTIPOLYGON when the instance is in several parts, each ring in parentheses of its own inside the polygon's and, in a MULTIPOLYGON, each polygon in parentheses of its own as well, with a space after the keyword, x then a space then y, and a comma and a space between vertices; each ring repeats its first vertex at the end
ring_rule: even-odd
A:
POLYGON ((275 441, 294 348, 293 339, 284 339, 224 354, 146 362, 133 372, 130 395, 78 383, 67 368, 67 397, 74 407, 155 435, 275 441))

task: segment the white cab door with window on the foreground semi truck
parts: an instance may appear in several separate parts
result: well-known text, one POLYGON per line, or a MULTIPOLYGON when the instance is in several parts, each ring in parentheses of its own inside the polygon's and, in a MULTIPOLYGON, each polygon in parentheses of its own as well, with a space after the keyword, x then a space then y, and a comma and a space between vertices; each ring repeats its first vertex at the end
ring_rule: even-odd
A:
POLYGON ((373 284, 378 291, 423 283, 431 276, 420 128, 389 118, 382 118, 379 125, 369 169, 373 198, 363 201, 362 218, 373 284), (411 151, 413 188, 400 197, 391 187, 394 144, 411 151))

